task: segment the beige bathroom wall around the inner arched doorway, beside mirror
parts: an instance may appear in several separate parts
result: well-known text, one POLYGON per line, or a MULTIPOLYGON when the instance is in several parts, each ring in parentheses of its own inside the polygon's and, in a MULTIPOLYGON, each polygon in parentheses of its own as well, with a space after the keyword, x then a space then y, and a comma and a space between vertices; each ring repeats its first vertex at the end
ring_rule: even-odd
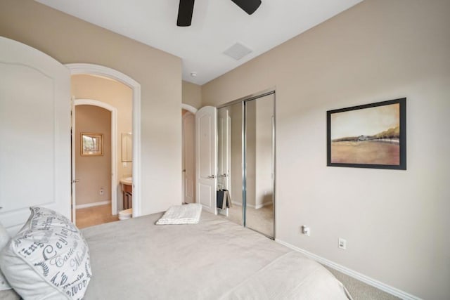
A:
POLYGON ((72 96, 75 96, 77 99, 98 100, 117 109, 117 183, 115 186, 117 190, 117 207, 121 209, 123 199, 120 179, 131 176, 133 172, 132 162, 122 163, 121 143, 122 133, 130 133, 132 129, 133 91, 129 86, 121 82, 84 74, 72 75, 71 87, 72 96))

